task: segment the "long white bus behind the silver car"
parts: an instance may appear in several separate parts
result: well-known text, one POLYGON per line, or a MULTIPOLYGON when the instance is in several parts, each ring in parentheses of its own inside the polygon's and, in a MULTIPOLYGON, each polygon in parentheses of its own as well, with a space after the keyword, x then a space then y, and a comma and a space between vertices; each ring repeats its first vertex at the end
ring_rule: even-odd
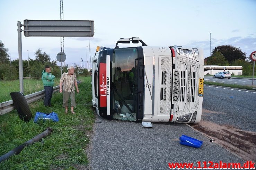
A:
POLYGON ((204 66, 204 75, 210 76, 221 71, 226 71, 231 74, 231 76, 242 75, 242 66, 204 66))

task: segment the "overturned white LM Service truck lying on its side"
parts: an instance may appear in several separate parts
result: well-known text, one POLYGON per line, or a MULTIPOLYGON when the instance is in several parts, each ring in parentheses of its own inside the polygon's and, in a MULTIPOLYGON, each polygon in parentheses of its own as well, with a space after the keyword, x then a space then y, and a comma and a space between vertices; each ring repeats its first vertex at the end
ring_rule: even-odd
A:
POLYGON ((201 49, 149 47, 123 38, 92 59, 92 105, 111 120, 198 123, 203 68, 201 49), (142 47, 118 47, 130 41, 142 47))

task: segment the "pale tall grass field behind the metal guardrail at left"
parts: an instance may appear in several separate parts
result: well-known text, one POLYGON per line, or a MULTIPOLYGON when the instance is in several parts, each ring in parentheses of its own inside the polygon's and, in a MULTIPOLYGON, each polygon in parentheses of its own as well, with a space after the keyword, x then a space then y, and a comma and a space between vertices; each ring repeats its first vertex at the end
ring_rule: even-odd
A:
MULTIPOLYGON (((59 86, 60 79, 56 78, 54 86, 59 86)), ((44 90, 43 81, 41 79, 24 79, 23 82, 24 95, 44 90)), ((0 80, 0 103, 11 100, 10 92, 20 91, 19 80, 0 80)))

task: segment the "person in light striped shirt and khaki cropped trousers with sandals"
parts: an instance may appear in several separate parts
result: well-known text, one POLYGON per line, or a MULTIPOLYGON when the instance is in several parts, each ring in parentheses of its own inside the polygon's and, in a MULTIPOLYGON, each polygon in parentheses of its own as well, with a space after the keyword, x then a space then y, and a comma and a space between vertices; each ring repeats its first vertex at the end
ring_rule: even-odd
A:
POLYGON ((62 95, 62 107, 65 107, 65 113, 68 113, 68 101, 69 97, 71 99, 71 113, 75 114, 74 107, 76 106, 75 101, 75 88, 76 86, 77 93, 79 93, 78 86, 77 86, 77 76, 76 73, 74 73, 75 68, 69 67, 68 72, 64 72, 60 79, 60 87, 62 86, 63 82, 63 88, 60 88, 60 92, 62 93, 63 89, 63 95, 62 95))

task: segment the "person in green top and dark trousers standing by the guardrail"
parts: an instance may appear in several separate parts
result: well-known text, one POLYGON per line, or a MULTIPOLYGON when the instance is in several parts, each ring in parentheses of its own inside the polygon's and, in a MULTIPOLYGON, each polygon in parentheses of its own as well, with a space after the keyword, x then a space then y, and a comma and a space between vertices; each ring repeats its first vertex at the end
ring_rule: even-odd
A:
POLYGON ((42 80, 45 90, 44 106, 52 106, 52 87, 54 85, 55 76, 51 73, 51 66, 45 66, 45 70, 42 72, 42 80))

